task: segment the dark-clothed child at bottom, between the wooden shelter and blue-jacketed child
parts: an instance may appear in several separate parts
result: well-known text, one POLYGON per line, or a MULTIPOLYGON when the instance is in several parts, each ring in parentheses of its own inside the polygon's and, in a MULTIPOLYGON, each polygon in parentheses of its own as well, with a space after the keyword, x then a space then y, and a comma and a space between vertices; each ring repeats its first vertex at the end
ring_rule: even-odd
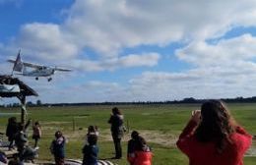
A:
POLYGON ((65 143, 66 138, 63 137, 60 131, 55 133, 55 139, 52 140, 50 151, 54 155, 56 165, 64 165, 65 161, 65 143))

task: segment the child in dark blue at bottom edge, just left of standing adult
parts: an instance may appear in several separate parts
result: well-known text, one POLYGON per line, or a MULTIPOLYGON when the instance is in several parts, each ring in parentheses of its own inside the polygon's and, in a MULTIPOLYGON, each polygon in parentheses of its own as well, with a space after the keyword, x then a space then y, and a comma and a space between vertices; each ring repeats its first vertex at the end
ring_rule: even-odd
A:
POLYGON ((97 165, 98 147, 96 145, 97 136, 88 136, 88 143, 83 147, 83 165, 97 165))

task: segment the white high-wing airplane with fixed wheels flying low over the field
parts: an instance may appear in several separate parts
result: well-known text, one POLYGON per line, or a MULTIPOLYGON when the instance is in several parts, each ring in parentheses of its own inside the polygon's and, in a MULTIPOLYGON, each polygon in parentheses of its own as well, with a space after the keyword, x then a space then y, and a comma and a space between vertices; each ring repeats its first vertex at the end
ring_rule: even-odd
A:
POLYGON ((22 75, 25 77, 34 77, 37 81, 39 77, 46 77, 48 82, 52 80, 51 76, 55 71, 70 72, 70 69, 63 69, 59 67, 49 67, 44 65, 37 65, 33 63, 23 62, 21 59, 21 50, 19 51, 16 60, 8 60, 10 63, 14 63, 12 75, 15 72, 16 75, 22 75), (28 68, 30 70, 28 70, 28 68))

